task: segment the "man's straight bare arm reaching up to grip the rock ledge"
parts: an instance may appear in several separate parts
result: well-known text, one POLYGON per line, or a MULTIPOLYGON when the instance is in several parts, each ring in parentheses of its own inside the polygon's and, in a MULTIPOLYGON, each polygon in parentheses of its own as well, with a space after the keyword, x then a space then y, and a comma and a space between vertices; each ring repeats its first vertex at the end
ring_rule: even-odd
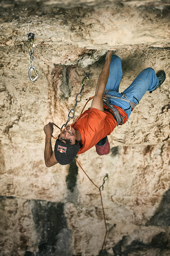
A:
POLYGON ((113 51, 108 51, 106 54, 106 61, 100 73, 100 76, 97 81, 96 92, 91 103, 91 108, 97 108, 101 111, 103 110, 103 93, 105 91, 105 87, 109 78, 109 68, 110 61, 112 57, 113 51))

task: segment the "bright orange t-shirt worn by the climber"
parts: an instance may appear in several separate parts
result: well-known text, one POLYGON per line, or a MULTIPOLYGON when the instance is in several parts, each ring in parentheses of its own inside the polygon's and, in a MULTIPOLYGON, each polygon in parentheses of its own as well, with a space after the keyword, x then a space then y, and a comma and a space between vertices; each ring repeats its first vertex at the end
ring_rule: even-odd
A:
MULTIPOLYGON (((127 114, 122 108, 114 107, 117 108, 121 116, 124 117, 125 123, 128 117, 127 114)), ((104 108, 107 107, 104 105, 104 108)), ((111 109, 109 110, 112 112, 111 109)), ((79 150, 78 154, 82 154, 96 145, 99 140, 110 135, 117 126, 117 122, 108 111, 104 110, 103 112, 97 108, 90 108, 84 111, 72 126, 81 134, 83 147, 79 150)))

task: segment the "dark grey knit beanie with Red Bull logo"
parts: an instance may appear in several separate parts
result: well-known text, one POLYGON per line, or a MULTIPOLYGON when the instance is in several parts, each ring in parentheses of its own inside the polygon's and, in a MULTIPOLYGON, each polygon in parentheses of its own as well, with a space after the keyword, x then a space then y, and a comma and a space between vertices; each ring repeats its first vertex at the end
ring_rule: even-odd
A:
POLYGON ((76 157, 79 149, 80 145, 66 144, 57 139, 54 146, 55 159, 59 164, 70 164, 76 157))

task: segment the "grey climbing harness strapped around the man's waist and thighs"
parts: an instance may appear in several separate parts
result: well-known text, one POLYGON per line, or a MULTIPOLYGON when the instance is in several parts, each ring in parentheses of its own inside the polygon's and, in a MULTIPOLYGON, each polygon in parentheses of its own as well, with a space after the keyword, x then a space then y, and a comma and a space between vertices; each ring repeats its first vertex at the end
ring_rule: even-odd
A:
MULTIPOLYGON (((119 114, 119 111, 118 111, 118 109, 117 108, 115 108, 115 107, 113 107, 113 105, 110 103, 110 101, 109 101, 109 98, 114 98, 114 99, 120 99, 120 100, 124 100, 124 101, 126 101, 126 102, 129 102, 129 104, 131 105, 131 108, 132 108, 132 111, 133 111, 133 109, 136 107, 136 103, 134 103, 134 102, 132 102, 132 101, 130 101, 129 99, 128 99, 128 97, 123 93, 123 92, 121 92, 121 94, 122 94, 122 97, 116 97, 116 96, 112 96, 112 95, 110 95, 110 94, 108 94, 108 92, 109 91, 112 91, 112 90, 107 90, 106 92, 105 92, 105 94, 104 94, 104 96, 103 96, 103 103, 108 107, 108 108, 111 108, 111 110, 113 111, 113 113, 114 113, 114 115, 115 115, 115 117, 116 117, 116 121, 117 121, 117 126, 119 125, 119 124, 124 124, 124 117, 125 116, 121 116, 120 114, 119 114), (123 97, 125 97, 126 99, 123 99, 123 97)), ((136 99, 136 98, 135 98, 136 99)), ((137 99, 136 99, 137 100, 137 99)), ((110 112, 108 109, 105 109, 106 111, 108 111, 108 112, 110 112)), ((111 113, 111 112, 110 112, 111 113)), ((112 113, 111 113, 112 114, 112 113)), ((114 116, 113 116, 114 117, 114 116)), ((114 118, 115 118, 114 117, 114 118)))

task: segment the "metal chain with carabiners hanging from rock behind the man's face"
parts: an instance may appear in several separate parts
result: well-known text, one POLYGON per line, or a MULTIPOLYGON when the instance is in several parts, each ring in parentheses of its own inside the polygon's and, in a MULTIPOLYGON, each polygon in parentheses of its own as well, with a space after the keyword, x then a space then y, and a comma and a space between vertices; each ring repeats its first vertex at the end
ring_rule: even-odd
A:
POLYGON ((86 72, 86 75, 84 76, 82 82, 81 82, 81 91, 79 93, 77 93, 76 97, 75 97, 75 105, 74 107, 69 111, 68 113, 68 119, 67 119, 67 122, 66 124, 63 124, 62 127, 61 127, 61 130, 63 128, 63 126, 65 127, 68 122, 70 121, 70 119, 74 118, 74 113, 75 113, 75 108, 77 106, 77 103, 81 101, 81 97, 82 97, 82 91, 84 90, 84 86, 87 85, 89 83, 89 75, 90 73, 89 72, 86 72), (87 82, 84 84, 84 80, 87 79, 87 82), (80 97, 79 99, 80 100, 77 100, 77 98, 80 97))

